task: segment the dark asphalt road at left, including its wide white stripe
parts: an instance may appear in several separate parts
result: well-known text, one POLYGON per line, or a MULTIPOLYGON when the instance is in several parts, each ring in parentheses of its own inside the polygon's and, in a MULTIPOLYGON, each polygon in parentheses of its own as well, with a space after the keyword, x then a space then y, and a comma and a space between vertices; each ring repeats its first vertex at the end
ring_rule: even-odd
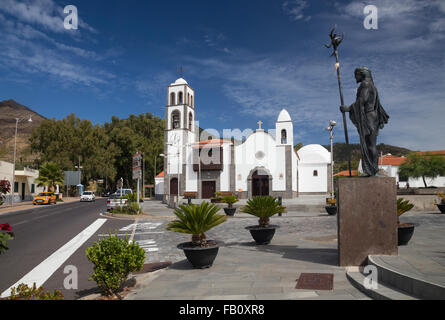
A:
POLYGON ((0 216, 0 223, 9 223, 15 234, 8 242, 9 250, 0 255, 0 294, 23 279, 41 279, 45 291, 58 289, 65 299, 90 293, 96 283, 88 281, 93 266, 86 258, 86 248, 98 241, 99 235, 133 223, 101 216, 105 209, 105 199, 98 199, 0 216), (64 287, 65 278, 74 275, 72 271, 64 273, 66 266, 77 268, 77 289, 64 287))

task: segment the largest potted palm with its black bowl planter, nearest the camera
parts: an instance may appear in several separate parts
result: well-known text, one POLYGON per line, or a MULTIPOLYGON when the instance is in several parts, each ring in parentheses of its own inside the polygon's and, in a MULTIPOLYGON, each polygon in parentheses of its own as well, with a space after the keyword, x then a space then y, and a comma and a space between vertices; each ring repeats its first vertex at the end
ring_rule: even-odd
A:
POLYGON ((178 220, 168 224, 167 230, 192 235, 192 241, 179 244, 178 249, 184 250, 194 268, 211 267, 218 254, 218 243, 207 240, 205 232, 227 220, 227 216, 218 214, 219 210, 209 202, 181 205, 174 211, 178 220))

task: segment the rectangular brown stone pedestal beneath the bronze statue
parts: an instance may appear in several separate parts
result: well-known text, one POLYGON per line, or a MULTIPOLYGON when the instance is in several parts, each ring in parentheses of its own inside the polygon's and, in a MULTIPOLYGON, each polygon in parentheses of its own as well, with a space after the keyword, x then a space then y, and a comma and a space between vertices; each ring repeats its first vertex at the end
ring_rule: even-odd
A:
POLYGON ((398 254, 396 180, 387 177, 339 179, 339 265, 364 265, 370 254, 398 254))

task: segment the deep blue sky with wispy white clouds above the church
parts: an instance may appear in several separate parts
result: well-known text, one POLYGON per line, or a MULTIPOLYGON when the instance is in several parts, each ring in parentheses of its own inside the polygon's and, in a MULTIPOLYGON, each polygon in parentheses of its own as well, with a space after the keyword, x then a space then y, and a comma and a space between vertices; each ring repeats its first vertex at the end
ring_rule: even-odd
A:
MULTIPOLYGON (((150 112, 164 117, 166 87, 178 77, 196 91, 203 128, 274 128, 281 109, 295 143, 328 144, 339 123, 334 58, 324 47, 336 23, 345 100, 357 66, 371 68, 391 116, 379 142, 445 149, 445 1, 0 1, 0 100, 45 117, 71 112, 93 123, 150 112), (363 8, 379 9, 379 29, 363 8), (75 5, 79 29, 65 30, 75 5)), ((348 120, 352 142, 358 137, 348 120)))

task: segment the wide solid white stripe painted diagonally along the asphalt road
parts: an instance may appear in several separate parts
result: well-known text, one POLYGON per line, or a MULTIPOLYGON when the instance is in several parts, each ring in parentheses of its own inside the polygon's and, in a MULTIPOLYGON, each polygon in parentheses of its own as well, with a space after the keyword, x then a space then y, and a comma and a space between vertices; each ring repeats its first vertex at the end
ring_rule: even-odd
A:
POLYGON ((89 227, 71 239, 59 250, 54 252, 46 260, 41 262, 37 267, 32 269, 22 279, 17 281, 7 290, 5 290, 1 297, 6 298, 11 294, 11 288, 17 287, 21 283, 25 283, 28 286, 32 286, 36 283, 37 288, 42 286, 57 269, 74 253, 79 249, 94 233, 107 221, 107 219, 97 219, 89 227))

